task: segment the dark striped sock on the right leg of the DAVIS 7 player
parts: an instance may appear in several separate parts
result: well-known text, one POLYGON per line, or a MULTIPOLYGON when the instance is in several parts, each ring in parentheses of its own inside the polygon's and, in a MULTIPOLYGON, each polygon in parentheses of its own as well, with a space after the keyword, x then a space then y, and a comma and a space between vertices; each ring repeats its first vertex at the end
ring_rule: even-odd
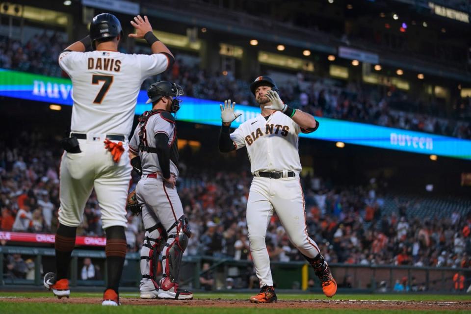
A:
POLYGON ((124 227, 112 226, 106 228, 106 274, 108 282, 106 289, 113 289, 116 293, 119 290, 119 281, 123 272, 124 260, 126 257, 126 235, 124 227))

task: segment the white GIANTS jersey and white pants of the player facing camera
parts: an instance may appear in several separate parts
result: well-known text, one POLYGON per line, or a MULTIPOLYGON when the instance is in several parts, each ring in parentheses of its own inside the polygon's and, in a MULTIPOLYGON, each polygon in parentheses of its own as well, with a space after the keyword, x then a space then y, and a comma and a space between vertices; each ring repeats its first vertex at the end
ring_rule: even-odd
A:
POLYGON ((275 111, 268 119, 259 114, 242 123, 230 135, 237 149, 247 147, 254 174, 247 202, 247 227, 260 287, 273 286, 265 234, 274 212, 289 240, 302 254, 309 258, 319 254, 317 244, 306 229, 304 195, 299 180, 298 134, 301 131, 308 132, 284 113, 275 111), (287 177, 288 171, 293 171, 295 177, 287 177), (259 172, 283 172, 284 177, 259 177, 259 172))

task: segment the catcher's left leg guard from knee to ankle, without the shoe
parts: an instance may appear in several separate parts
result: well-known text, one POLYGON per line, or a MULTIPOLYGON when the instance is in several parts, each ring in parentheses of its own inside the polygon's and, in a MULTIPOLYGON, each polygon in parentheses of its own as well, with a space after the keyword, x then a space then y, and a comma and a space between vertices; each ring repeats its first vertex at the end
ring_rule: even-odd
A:
POLYGON ((141 248, 141 274, 142 278, 152 279, 157 282, 158 256, 162 252, 167 240, 163 226, 158 223, 146 230, 146 238, 141 248))

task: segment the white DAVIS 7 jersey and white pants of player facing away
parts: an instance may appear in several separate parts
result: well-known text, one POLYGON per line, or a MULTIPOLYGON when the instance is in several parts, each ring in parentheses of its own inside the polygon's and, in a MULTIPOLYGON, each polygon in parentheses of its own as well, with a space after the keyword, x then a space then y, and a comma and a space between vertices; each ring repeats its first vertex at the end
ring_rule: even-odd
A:
POLYGON ((114 51, 72 52, 59 55, 60 67, 72 79, 72 133, 81 153, 62 155, 59 222, 77 227, 87 199, 95 188, 103 228, 126 227, 126 198, 131 179, 128 136, 144 79, 166 70, 165 54, 126 54, 114 51), (103 143, 107 135, 122 135, 123 152, 114 162, 103 143))

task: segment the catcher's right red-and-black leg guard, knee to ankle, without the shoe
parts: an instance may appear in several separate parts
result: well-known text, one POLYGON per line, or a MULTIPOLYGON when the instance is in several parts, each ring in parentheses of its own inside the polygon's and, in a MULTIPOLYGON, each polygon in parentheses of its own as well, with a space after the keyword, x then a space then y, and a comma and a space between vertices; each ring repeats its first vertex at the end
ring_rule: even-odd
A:
POLYGON ((170 228, 165 254, 162 257, 163 277, 168 277, 172 283, 177 282, 182 262, 183 252, 188 246, 191 229, 188 220, 183 215, 174 226, 170 228))

